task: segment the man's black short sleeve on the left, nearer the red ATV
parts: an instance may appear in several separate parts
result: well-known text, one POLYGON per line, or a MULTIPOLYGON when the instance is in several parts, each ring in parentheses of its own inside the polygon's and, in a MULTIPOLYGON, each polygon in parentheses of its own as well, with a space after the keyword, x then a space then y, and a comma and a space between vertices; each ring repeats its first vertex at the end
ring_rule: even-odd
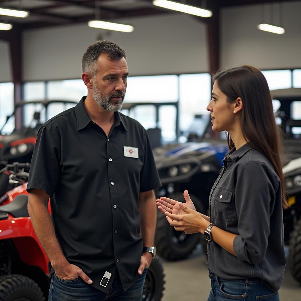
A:
POLYGON ((45 126, 38 132, 30 163, 27 191, 45 190, 51 197, 60 178, 61 148, 45 126))

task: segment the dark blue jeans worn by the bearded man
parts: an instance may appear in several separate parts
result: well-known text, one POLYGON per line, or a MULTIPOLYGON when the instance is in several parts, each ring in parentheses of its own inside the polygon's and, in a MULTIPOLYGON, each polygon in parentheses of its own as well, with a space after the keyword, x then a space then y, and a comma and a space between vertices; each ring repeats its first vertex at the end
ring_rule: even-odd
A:
POLYGON ((147 268, 142 275, 138 276, 137 282, 128 290, 124 291, 119 278, 116 274, 110 292, 108 294, 85 283, 82 278, 72 280, 62 280, 55 273, 52 274, 49 301, 141 301, 147 268))

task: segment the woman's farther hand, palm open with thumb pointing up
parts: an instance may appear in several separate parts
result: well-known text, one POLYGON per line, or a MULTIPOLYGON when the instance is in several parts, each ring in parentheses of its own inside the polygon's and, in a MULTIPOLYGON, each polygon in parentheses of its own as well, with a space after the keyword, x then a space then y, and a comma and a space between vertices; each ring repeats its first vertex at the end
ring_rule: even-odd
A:
MULTIPOLYGON (((186 201, 185 205, 188 208, 197 211, 194 207, 191 198, 189 197, 187 190, 184 191, 183 195, 186 201)), ((169 212, 172 214, 186 214, 185 211, 183 211, 182 208, 180 207, 180 204, 182 204, 182 202, 169 199, 168 197, 161 197, 160 199, 157 199, 158 209, 163 213, 169 212)))

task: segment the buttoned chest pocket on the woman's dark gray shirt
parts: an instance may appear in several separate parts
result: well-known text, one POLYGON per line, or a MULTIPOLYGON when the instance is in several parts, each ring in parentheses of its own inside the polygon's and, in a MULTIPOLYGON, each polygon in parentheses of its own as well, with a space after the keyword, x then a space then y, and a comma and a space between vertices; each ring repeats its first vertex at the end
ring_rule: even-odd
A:
POLYGON ((217 188, 214 197, 215 210, 214 215, 217 219, 223 219, 225 221, 234 221, 234 191, 228 188, 217 188))

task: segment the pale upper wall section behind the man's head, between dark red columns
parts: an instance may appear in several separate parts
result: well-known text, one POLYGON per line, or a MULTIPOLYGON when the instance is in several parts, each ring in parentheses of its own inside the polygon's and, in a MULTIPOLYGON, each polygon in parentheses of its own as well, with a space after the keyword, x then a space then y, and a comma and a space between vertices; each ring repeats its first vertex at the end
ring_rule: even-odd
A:
POLYGON ((187 14, 139 17, 132 33, 107 32, 86 23, 28 30, 23 35, 23 80, 81 76, 81 58, 99 33, 126 50, 132 75, 207 72, 206 26, 187 14))

